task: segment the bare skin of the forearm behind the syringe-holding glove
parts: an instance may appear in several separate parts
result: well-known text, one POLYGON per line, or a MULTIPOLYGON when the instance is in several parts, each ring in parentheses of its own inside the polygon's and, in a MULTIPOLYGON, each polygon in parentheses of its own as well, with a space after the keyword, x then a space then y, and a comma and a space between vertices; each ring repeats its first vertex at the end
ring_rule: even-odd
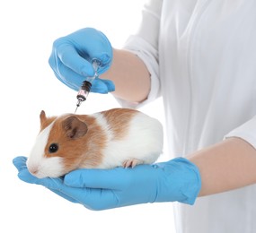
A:
POLYGON ((150 73, 143 61, 134 53, 113 49, 110 69, 103 73, 102 79, 115 83, 113 94, 129 102, 141 102, 150 91, 150 73))

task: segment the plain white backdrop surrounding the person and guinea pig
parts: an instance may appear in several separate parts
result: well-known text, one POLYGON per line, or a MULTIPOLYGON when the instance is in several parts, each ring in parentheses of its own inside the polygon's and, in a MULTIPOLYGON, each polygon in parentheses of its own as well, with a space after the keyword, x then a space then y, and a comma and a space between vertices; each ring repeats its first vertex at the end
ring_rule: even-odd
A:
MULTIPOLYGON (((0 3, 1 154, 0 232, 174 232, 172 203, 89 211, 42 186, 17 177, 12 160, 27 156, 49 116, 75 111, 76 92, 55 78, 48 59, 52 42, 75 30, 102 30, 113 47, 136 31, 143 0, 8 0, 0 3)), ((93 94, 79 114, 119 107, 113 97, 93 94)), ((161 99, 141 108, 163 122, 161 99)), ((164 122, 163 122, 164 125, 164 122)), ((163 154, 160 160, 166 160, 163 154)))

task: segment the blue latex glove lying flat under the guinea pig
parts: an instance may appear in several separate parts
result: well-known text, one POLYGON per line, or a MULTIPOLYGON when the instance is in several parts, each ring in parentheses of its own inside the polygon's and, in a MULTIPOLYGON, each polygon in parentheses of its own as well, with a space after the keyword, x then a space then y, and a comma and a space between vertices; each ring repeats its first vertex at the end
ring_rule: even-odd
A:
POLYGON ((25 182, 51 191, 91 210, 105 210, 138 203, 193 204, 199 194, 199 169, 184 158, 135 168, 77 169, 63 178, 36 178, 26 168, 26 158, 13 164, 25 182))

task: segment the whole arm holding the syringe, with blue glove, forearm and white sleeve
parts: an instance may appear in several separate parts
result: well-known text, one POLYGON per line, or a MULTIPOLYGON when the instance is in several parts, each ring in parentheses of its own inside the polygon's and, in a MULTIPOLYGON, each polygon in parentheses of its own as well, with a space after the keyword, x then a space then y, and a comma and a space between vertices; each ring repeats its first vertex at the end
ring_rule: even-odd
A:
POLYGON ((78 91, 94 75, 92 59, 101 61, 92 92, 112 92, 119 100, 142 102, 159 96, 158 38, 163 0, 147 1, 137 33, 124 49, 115 49, 102 31, 76 30, 54 41, 49 65, 57 79, 78 91), (154 86, 154 91, 152 91, 154 86), (150 92, 150 93, 149 93, 150 92))

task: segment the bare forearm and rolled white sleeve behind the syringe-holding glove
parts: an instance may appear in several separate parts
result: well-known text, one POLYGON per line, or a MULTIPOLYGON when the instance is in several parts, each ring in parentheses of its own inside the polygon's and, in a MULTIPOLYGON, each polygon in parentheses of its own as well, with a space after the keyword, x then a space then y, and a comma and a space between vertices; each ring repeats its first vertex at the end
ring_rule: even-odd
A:
POLYGON ((125 104, 151 101, 159 94, 158 39, 162 4, 163 0, 146 1, 137 32, 128 37, 124 50, 113 48, 110 70, 102 74, 102 79, 115 83, 112 93, 125 104))

